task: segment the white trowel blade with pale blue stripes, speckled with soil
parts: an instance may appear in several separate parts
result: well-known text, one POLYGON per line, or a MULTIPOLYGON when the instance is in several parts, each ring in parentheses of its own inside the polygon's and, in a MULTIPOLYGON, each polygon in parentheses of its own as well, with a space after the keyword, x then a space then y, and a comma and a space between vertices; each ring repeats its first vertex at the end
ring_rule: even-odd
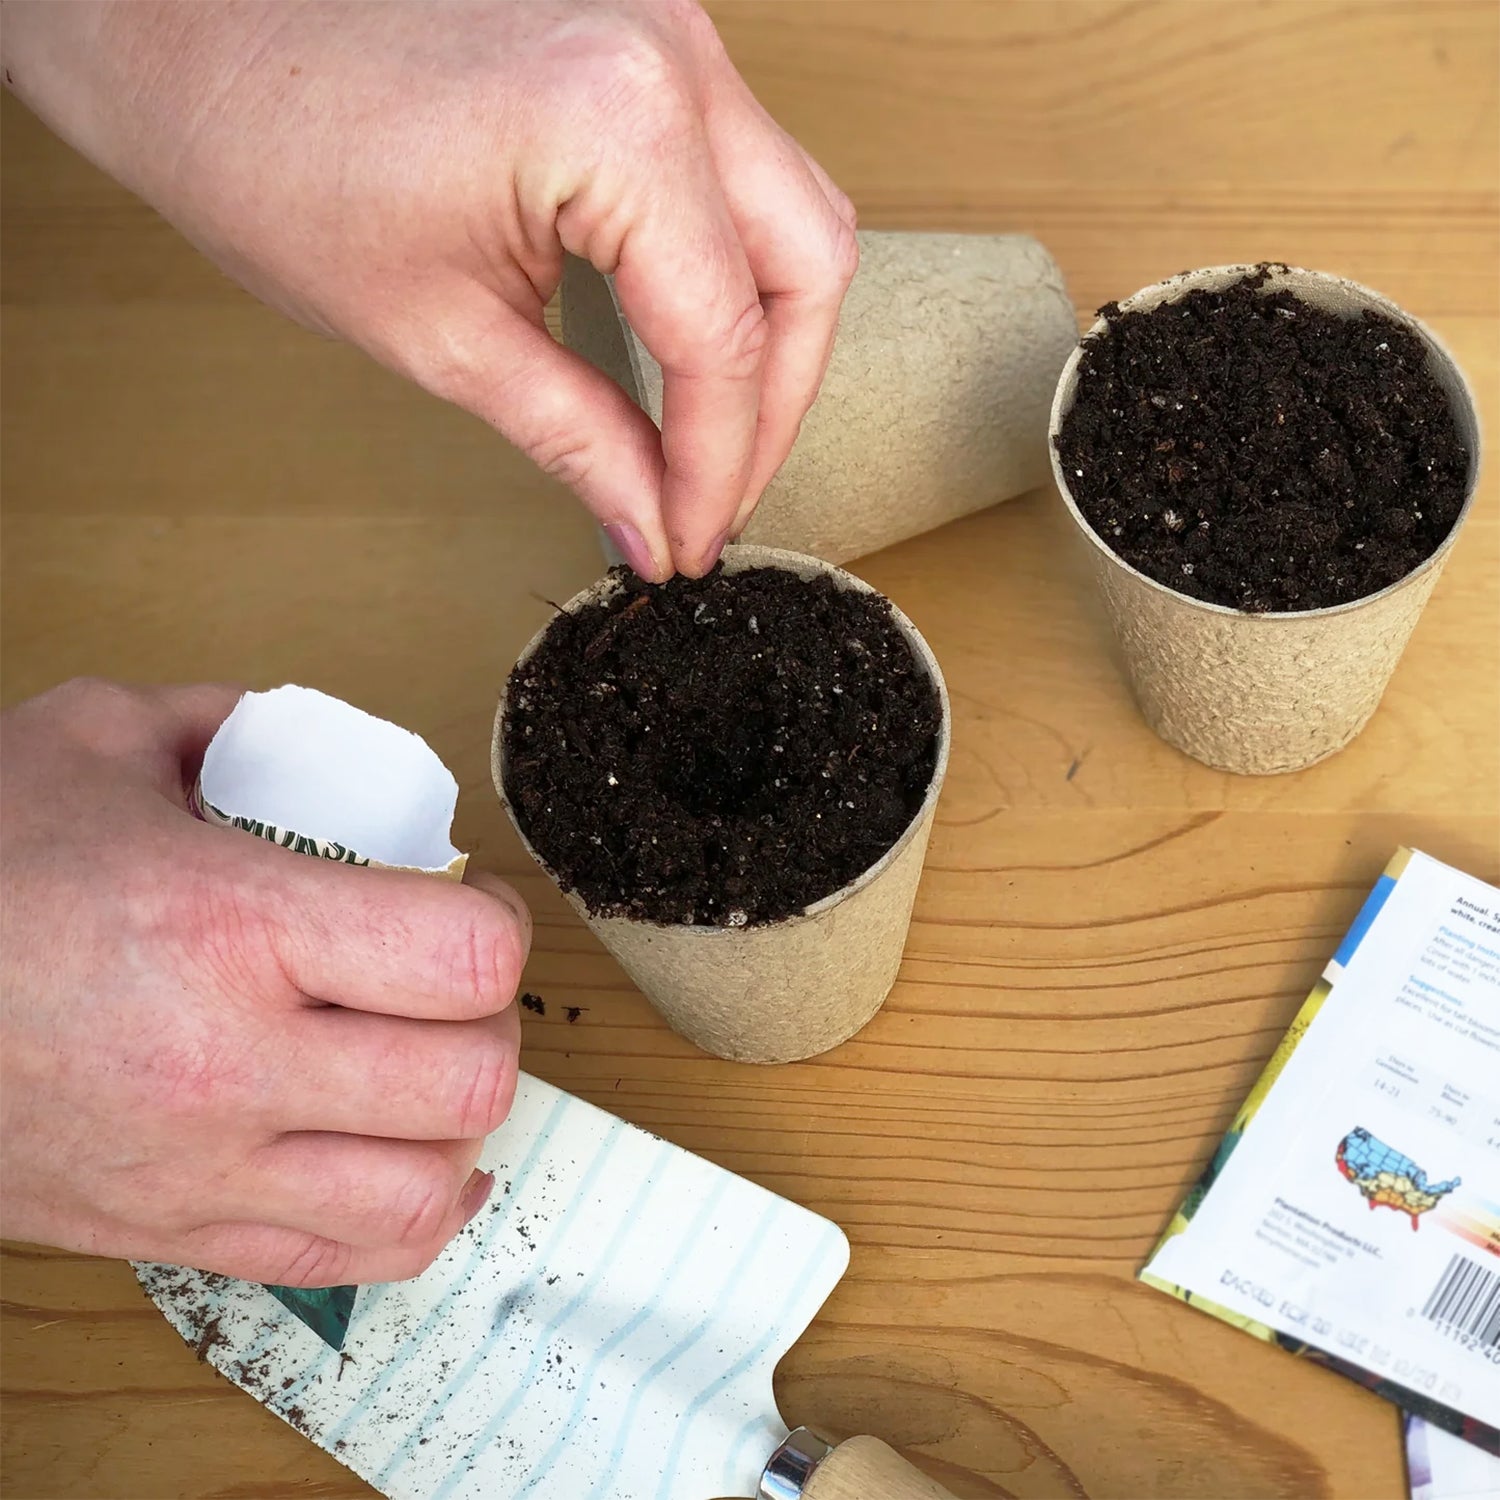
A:
POLYGON ((363 1287, 342 1350, 264 1287, 136 1272, 382 1494, 753 1496, 786 1436, 771 1372, 843 1275, 843 1232, 526 1076, 482 1166, 489 1204, 416 1281, 363 1287))

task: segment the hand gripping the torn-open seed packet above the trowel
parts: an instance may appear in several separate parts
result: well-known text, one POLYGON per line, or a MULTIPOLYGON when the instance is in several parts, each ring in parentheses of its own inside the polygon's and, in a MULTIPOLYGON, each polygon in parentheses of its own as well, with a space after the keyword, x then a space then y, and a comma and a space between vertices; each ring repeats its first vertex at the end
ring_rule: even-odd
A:
POLYGON ((494 1180, 530 918, 498 880, 198 822, 236 698, 80 681, 0 717, 0 1227, 288 1286, 412 1276, 494 1180))

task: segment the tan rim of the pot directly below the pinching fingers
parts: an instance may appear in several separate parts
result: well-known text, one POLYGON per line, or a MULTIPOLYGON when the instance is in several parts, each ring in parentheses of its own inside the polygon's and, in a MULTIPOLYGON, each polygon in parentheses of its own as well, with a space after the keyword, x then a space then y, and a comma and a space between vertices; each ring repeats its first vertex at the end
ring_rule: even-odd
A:
MULTIPOLYGON (((588 906, 574 891, 562 890, 562 882, 558 879, 556 872, 552 868, 550 862, 543 860, 537 852, 536 846, 531 843, 530 836, 520 826, 520 819, 516 816, 514 807, 510 804, 510 798, 506 795, 506 704, 510 699, 510 682, 514 676, 516 668, 524 662, 528 662, 536 652, 537 646, 542 645, 543 638, 552 628, 556 615, 552 616, 522 648, 520 656, 516 657, 516 664, 506 675, 506 686, 501 688, 500 705, 495 710, 495 728, 490 738, 490 778, 495 783, 495 792, 500 796, 501 804, 510 818, 510 825, 516 830, 522 846, 526 854, 548 873, 552 882, 562 891, 564 898, 591 922, 627 922, 632 927, 652 927, 664 933, 692 933, 702 938, 723 938, 732 940, 736 938, 746 938, 752 934, 762 934, 771 932, 780 932, 788 927, 796 927, 802 922, 810 922, 822 916, 831 908, 842 904, 849 900, 849 897, 866 890, 866 886, 873 885, 880 874, 894 864, 897 855, 916 837, 916 831, 927 822, 932 816, 933 808, 938 804, 938 798, 942 792, 944 777, 948 772, 948 753, 952 744, 952 706, 948 700, 948 684, 944 681, 942 668, 938 664, 938 657, 933 654, 932 646, 927 645, 921 632, 908 620, 904 612, 892 603, 885 594, 862 578, 856 578, 846 568, 838 567, 834 562, 825 562, 822 558, 812 556, 804 552, 790 552, 784 548, 765 548, 756 543, 744 543, 735 548, 724 549, 724 562, 730 562, 734 572, 746 572, 752 567, 780 567, 789 573, 798 573, 802 578, 812 578, 814 574, 830 574, 840 580, 842 586, 850 592, 861 594, 876 594, 890 604, 891 615, 896 620, 896 627, 900 630, 902 636, 906 639, 910 648, 912 657, 926 669, 933 687, 938 688, 938 753, 933 759, 932 778, 927 783, 927 792, 922 796, 921 806, 912 813, 906 826, 896 836, 891 846, 876 860, 872 866, 861 870, 852 880, 840 885, 838 890, 830 891, 828 896, 819 897, 806 910, 796 912, 792 916, 782 916, 772 922, 750 922, 744 927, 724 927, 724 926, 710 926, 702 922, 656 922, 644 916, 598 916, 588 910, 588 906)), ((726 568, 728 570, 728 568, 726 568)), ((584 604, 594 603, 600 598, 608 598, 618 592, 624 586, 620 578, 606 573, 603 578, 596 579, 588 588, 579 590, 558 614, 573 614, 584 604)))

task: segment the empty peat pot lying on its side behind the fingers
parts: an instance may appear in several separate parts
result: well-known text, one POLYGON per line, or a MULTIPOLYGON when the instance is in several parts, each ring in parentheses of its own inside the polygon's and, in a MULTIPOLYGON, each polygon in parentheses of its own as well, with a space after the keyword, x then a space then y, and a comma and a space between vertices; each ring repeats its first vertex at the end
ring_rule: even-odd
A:
MULTIPOLYGON (((1077 338, 1062 272, 1028 236, 861 230, 818 399, 746 542, 843 562, 1046 483, 1047 405, 1077 338)), ((660 366, 614 282, 572 255, 562 339, 660 426, 660 366)))

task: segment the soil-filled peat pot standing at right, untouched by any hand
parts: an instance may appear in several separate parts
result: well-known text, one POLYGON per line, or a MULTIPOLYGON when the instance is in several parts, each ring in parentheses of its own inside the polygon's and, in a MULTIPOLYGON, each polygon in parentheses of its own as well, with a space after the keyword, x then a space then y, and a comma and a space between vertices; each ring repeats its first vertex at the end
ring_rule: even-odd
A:
POLYGON ((1377 292, 1284 266, 1101 309, 1052 410, 1136 699, 1224 771, 1296 771, 1376 711, 1473 501, 1474 402, 1377 292))

